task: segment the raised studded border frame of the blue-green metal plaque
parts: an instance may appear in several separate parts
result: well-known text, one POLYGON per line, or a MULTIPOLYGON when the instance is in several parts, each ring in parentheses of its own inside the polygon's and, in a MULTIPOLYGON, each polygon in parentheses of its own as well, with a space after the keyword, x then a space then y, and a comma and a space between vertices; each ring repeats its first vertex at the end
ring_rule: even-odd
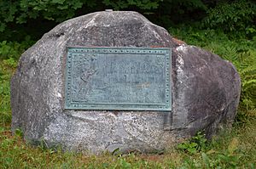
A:
POLYGON ((129 111, 172 111, 172 48, 129 48, 129 47, 80 47, 67 46, 65 54, 65 110, 129 110, 129 111), (165 54, 166 58, 166 103, 165 104, 144 104, 147 107, 129 107, 129 105, 143 105, 143 104, 72 104, 71 99, 71 68, 72 57, 70 51, 75 53, 92 54, 92 53, 106 53, 106 54, 165 54), (69 69, 68 69, 69 68, 69 69), (110 106, 109 106, 110 105, 110 106), (161 105, 154 107, 155 105, 161 105), (112 106, 112 107, 111 107, 112 106))

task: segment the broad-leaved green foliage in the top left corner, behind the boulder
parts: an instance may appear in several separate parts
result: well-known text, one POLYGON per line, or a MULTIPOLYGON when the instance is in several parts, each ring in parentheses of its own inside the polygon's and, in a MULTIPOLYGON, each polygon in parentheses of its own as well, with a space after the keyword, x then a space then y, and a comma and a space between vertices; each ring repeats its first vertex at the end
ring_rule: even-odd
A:
POLYGON ((72 18, 78 8, 83 4, 90 7, 94 6, 94 1, 90 0, 44 0, 44 1, 3 1, 0 3, 0 31, 4 31, 7 23, 15 22, 18 24, 26 23, 29 19, 42 17, 45 20, 55 20, 60 22, 72 18))

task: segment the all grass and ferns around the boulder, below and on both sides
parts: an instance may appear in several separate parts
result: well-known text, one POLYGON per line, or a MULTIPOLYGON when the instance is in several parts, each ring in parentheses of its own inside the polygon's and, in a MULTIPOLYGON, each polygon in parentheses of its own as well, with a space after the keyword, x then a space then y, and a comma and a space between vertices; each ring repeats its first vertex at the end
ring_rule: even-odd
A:
MULTIPOLYGON (((201 145, 201 149, 189 152, 189 148, 167 149, 161 155, 83 155, 62 152, 61 149, 34 147, 22 139, 22 132, 10 132, 11 110, 9 80, 17 65, 20 48, 16 42, 0 44, 0 168, 255 168, 256 167, 256 75, 255 41, 230 40, 222 32, 196 31, 192 28, 171 29, 171 34, 189 44, 195 44, 229 59, 240 72, 243 84, 241 103, 236 122, 230 130, 224 130, 201 145), (19 50, 13 50, 19 47, 19 50), (12 48, 9 57, 8 50, 12 48), (255 65, 254 65, 255 64, 255 65)), ((31 44, 31 43, 29 43, 31 44)), ((201 135, 202 136, 202 135, 201 135)), ((203 137, 198 138, 199 141, 203 137)), ((185 142, 189 146, 195 142, 185 142)))

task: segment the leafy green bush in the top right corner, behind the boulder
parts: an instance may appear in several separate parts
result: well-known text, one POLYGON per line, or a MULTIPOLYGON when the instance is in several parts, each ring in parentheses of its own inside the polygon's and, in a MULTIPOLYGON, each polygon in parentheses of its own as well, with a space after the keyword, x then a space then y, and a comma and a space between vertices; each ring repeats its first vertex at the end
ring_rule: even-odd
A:
MULTIPOLYGON (((256 4, 248 0, 224 1, 207 9, 205 28, 222 29, 225 32, 242 31, 255 36, 256 4)), ((237 32, 236 32, 237 34, 237 32)))

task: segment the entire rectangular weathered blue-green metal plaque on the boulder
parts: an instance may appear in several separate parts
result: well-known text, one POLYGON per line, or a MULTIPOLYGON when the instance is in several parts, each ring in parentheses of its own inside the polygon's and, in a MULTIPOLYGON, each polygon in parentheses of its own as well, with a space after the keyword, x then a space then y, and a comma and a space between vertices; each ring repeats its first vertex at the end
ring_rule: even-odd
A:
POLYGON ((170 48, 67 48, 65 108, 172 110, 170 48))

